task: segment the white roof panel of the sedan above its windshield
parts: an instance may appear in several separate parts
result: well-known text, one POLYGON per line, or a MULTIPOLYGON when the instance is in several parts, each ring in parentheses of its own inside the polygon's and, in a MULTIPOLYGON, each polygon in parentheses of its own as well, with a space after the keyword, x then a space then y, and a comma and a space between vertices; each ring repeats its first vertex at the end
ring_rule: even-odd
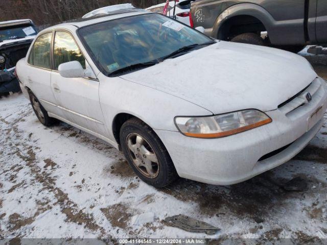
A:
POLYGON ((104 22, 108 20, 113 20, 113 19, 119 19, 119 18, 125 18, 129 16, 135 16, 135 15, 141 15, 141 14, 151 14, 151 12, 148 12, 144 9, 129 9, 129 10, 122 10, 122 11, 115 11, 110 14, 106 15, 97 15, 94 17, 90 18, 81 18, 81 19, 76 19, 72 21, 66 21, 61 24, 57 24, 56 26, 52 26, 49 28, 44 29, 42 32, 53 30, 53 29, 60 29, 60 28, 69 28, 74 26, 77 28, 80 27, 85 27, 85 26, 90 26, 91 24, 99 23, 99 22, 104 22))

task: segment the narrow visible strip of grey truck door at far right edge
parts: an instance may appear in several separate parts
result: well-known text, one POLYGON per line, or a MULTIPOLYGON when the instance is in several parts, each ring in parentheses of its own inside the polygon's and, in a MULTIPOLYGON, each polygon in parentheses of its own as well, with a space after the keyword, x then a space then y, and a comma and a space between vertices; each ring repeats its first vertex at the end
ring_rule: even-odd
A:
POLYGON ((318 42, 327 42, 327 1, 318 0, 316 18, 316 37, 318 42))

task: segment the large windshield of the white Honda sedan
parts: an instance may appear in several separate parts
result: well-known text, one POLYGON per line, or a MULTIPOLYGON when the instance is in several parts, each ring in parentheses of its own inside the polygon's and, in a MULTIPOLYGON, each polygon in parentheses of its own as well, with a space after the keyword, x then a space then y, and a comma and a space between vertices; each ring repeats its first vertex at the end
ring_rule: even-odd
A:
POLYGON ((110 20, 81 28, 78 33, 92 59, 107 76, 135 64, 168 57, 185 46, 213 42, 161 14, 110 20))

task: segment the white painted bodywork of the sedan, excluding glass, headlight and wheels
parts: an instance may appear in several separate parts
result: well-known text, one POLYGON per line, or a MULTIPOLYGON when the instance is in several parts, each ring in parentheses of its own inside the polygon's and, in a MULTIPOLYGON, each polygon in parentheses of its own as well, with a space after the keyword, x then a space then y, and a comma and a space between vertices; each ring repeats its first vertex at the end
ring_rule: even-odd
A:
MULTIPOLYGON (((138 117, 157 133, 180 177, 217 185, 245 181, 290 160, 322 125, 327 88, 322 79, 316 79, 316 72, 303 57, 275 48, 217 41, 121 77, 106 77, 92 63, 74 25, 62 24, 46 31, 70 31, 98 80, 63 78, 58 72, 33 67, 25 59, 17 63, 22 90, 30 88, 51 117, 97 136, 116 149, 119 145, 112 127, 116 115, 128 113, 138 117), (315 79, 319 92, 310 104, 294 111, 293 117, 277 110, 279 104, 315 79), (322 113, 316 115, 318 108, 322 113), (220 139, 185 137, 174 125, 175 116, 206 116, 245 109, 264 111, 272 122, 220 139), (309 123, 313 116, 315 119, 309 123), (264 155, 293 142, 288 151, 259 162, 264 155)), ((311 90, 308 88, 306 93, 311 90)), ((303 99, 305 94, 300 96, 303 99)))

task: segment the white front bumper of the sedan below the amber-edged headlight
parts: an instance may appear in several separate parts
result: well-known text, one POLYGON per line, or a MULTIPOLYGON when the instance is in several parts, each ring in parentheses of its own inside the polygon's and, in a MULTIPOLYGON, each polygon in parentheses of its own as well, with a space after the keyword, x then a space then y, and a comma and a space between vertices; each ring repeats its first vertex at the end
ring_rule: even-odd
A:
MULTIPOLYGON (((260 128, 218 139, 155 132, 180 177, 215 185, 236 184, 289 161, 316 135, 327 109, 327 88, 322 79, 316 83, 319 81, 312 102, 287 113, 285 107, 266 112, 273 122, 260 128)), ((294 102, 287 107, 294 107, 294 102)))

